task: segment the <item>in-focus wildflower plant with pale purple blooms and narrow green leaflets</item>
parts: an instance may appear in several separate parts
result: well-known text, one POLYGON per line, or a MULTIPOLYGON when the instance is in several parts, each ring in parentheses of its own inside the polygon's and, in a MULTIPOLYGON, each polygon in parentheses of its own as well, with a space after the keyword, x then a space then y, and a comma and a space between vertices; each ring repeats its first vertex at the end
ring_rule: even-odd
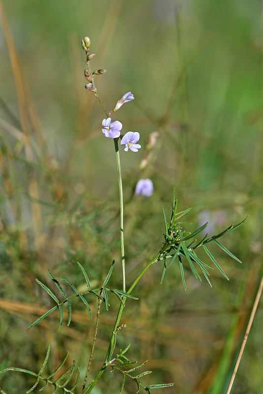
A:
MULTIPOLYGON (((160 274, 160 282, 163 283, 164 276, 166 270, 168 268, 168 263, 176 263, 178 266, 178 270, 181 273, 182 282, 185 290, 187 290, 186 280, 184 275, 185 266, 190 267, 193 272, 193 275, 196 279, 201 281, 201 275, 204 276, 206 281, 210 286, 211 282, 209 280, 210 272, 213 269, 213 266, 209 265, 207 262, 203 262, 201 257, 198 256, 198 251, 203 249, 206 252, 206 255, 209 258, 210 263, 212 263, 226 278, 229 279, 220 265, 217 263, 215 257, 212 255, 211 251, 208 249, 209 244, 215 243, 219 248, 221 248, 225 253, 227 253, 231 258, 241 263, 240 260, 235 257, 223 244, 219 242, 219 238, 223 235, 227 235, 230 231, 237 229, 241 226, 247 218, 241 221, 239 224, 233 226, 229 226, 226 230, 221 231, 220 233, 208 237, 206 233, 203 236, 203 231, 206 229, 208 223, 205 223, 197 230, 190 232, 186 230, 186 226, 190 223, 182 221, 182 217, 186 215, 190 208, 184 209, 183 211, 177 211, 177 200, 175 197, 175 190, 173 192, 173 200, 172 200, 172 208, 170 219, 167 220, 166 214, 163 209, 163 217, 164 217, 164 239, 163 243, 160 242, 160 247, 157 251, 153 251, 154 256, 152 259, 147 262, 143 268, 137 273, 132 283, 129 283, 127 286, 126 283, 126 261, 125 261, 125 244, 124 244, 124 199, 123 199, 123 187, 122 187, 122 174, 121 174, 121 162, 120 162, 120 153, 119 153, 119 145, 124 147, 124 151, 131 150, 132 152, 138 152, 138 149, 141 148, 141 145, 137 142, 139 141, 140 134, 135 131, 127 131, 124 135, 121 134, 121 130, 125 129, 122 123, 118 120, 113 120, 111 118, 111 114, 115 113, 117 110, 121 108, 124 103, 130 102, 134 99, 131 92, 128 92, 123 95, 121 99, 119 99, 116 105, 113 107, 111 111, 108 111, 99 97, 96 85, 95 85, 95 76, 101 75, 105 73, 105 69, 98 69, 92 71, 91 68, 91 60, 94 58, 95 54, 90 54, 90 39, 85 37, 82 40, 82 48, 86 54, 86 64, 87 69, 84 71, 85 78, 88 83, 85 85, 85 88, 94 94, 96 99, 99 100, 100 105, 105 113, 105 118, 102 120, 102 132, 104 136, 107 138, 113 139, 114 151, 116 156, 116 164, 117 164, 117 174, 118 174, 118 185, 119 185, 119 199, 120 199, 120 261, 113 261, 108 268, 108 273, 105 276, 103 282, 98 286, 92 285, 92 278, 90 278, 89 272, 86 271, 85 266, 76 262, 78 269, 81 271, 83 278, 86 283, 86 290, 79 291, 77 290, 77 284, 71 283, 66 278, 56 278, 50 270, 48 270, 48 275, 50 277, 51 282, 55 284, 57 288, 56 295, 49 287, 44 285, 38 279, 36 282, 38 285, 51 297, 54 306, 50 308, 47 312, 45 312, 42 316, 36 319, 28 329, 32 329, 39 322, 45 319, 48 315, 53 313, 54 311, 59 312, 59 323, 58 328, 60 329, 63 324, 64 314, 63 314, 63 306, 66 305, 67 308, 67 326, 71 323, 72 316, 72 300, 78 299, 82 302, 86 309, 90 319, 93 318, 92 310, 87 298, 95 297, 98 302, 98 310, 97 310, 97 318, 96 318, 96 327, 93 337, 93 344, 91 349, 90 358, 88 364, 86 366, 86 374, 85 376, 81 376, 80 368, 77 364, 77 361, 73 361, 73 363, 68 367, 66 372, 63 373, 59 378, 55 378, 56 373, 63 367, 66 362, 66 357, 61 362, 61 364, 52 372, 45 373, 45 367, 48 362, 49 354, 50 354, 50 346, 47 346, 47 354, 42 363, 41 368, 38 372, 30 371, 27 369, 17 368, 17 367, 8 367, 0 373, 4 373, 7 371, 20 371, 23 373, 27 373, 35 377, 34 385, 27 391, 27 393, 33 392, 36 389, 38 384, 42 382, 44 386, 40 388, 39 391, 44 390, 48 386, 53 386, 54 391, 56 393, 60 390, 62 393, 78 393, 78 394, 87 394, 91 393, 94 387, 98 384, 99 378, 106 371, 110 370, 114 373, 119 373, 121 376, 120 379, 120 390, 119 393, 122 393, 124 390, 127 381, 133 381, 137 386, 137 392, 144 391, 146 393, 152 393, 154 389, 162 389, 173 386, 173 383, 152 383, 150 385, 145 385, 143 382, 143 378, 145 375, 150 374, 152 371, 144 370, 144 366, 146 361, 143 361, 137 364, 137 361, 132 361, 129 358, 129 348, 130 345, 127 344, 124 350, 118 349, 118 333, 122 328, 125 328, 125 323, 121 323, 122 314, 126 305, 127 298, 130 298, 134 302, 138 299, 135 294, 133 294, 133 290, 136 287, 137 283, 144 275, 144 273, 154 264, 161 263, 162 264, 162 274, 160 274), (119 144, 120 141, 120 144, 119 144), (113 274, 116 266, 120 267, 122 270, 122 285, 120 288, 112 288, 110 283, 111 275, 113 274), (99 315, 100 315, 100 307, 101 304, 105 305, 106 310, 109 309, 109 301, 108 296, 112 294, 116 297, 119 302, 119 309, 117 312, 117 316, 115 319, 114 326, 112 328, 110 337, 109 337, 109 345, 105 352, 104 361, 101 361, 101 367, 97 372, 96 376, 89 380, 89 372, 91 369, 91 363, 93 358, 93 353, 96 346, 96 339, 99 328, 99 315)), ((99 125, 98 125, 99 126, 99 125)), ((102 134, 101 134, 101 137, 102 134)), ((108 140, 110 144, 111 141, 108 140)), ((148 142, 149 143, 149 142, 148 142)), ((129 156, 126 158, 129 160, 129 156)), ((153 194, 153 183, 150 179, 139 179, 135 188, 135 195, 142 195, 144 197, 150 197, 153 194)), ((129 263, 129 262, 128 262, 129 263)), ((83 369, 83 368, 82 368, 83 369)), ((111 391, 112 392, 112 391, 111 391)))

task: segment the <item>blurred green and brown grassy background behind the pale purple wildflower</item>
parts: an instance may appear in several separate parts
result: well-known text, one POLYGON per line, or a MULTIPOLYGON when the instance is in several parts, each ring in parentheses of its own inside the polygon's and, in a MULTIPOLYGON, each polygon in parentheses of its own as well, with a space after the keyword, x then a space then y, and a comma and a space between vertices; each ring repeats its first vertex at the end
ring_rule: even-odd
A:
MULTIPOLYGON (((85 375, 95 319, 84 305, 73 303, 60 331, 55 314, 26 330, 53 306, 34 280, 56 292, 48 268, 85 291, 76 261, 99 287, 115 259, 110 286, 121 286, 116 159, 104 112, 84 89, 88 35, 92 68, 107 70, 95 79, 107 109, 126 92, 135 97, 112 116, 142 145, 121 150, 128 285, 162 245, 174 187, 178 209, 192 207, 186 221, 208 220, 209 235, 250 215, 222 238, 242 265, 211 248, 230 282, 214 270, 210 289, 186 264, 185 292, 178 263, 162 286, 155 264, 134 291, 139 300, 127 301, 116 348, 131 343, 130 359, 149 359, 145 384, 175 383, 161 393, 225 393, 262 275, 262 1, 0 0, 0 16, 0 370, 40 369, 50 343, 50 371, 68 350, 85 375), (140 178, 153 181, 151 197, 134 195, 140 178)), ((109 302, 91 378, 118 309, 109 302)), ((262 324, 261 302, 233 393, 262 391, 262 324)), ((93 392, 118 393, 121 380, 105 372, 93 392)), ((7 394, 33 383, 18 372, 0 377, 7 394)), ((123 393, 135 390, 128 382, 123 393)))

